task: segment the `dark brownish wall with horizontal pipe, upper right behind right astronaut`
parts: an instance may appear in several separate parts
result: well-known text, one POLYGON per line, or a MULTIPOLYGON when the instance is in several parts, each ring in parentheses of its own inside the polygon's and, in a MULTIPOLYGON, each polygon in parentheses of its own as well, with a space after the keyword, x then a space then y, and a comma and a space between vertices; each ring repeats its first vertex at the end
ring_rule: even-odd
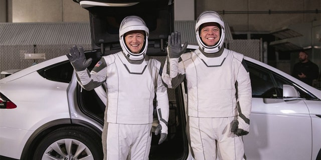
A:
POLYGON ((232 27, 232 31, 272 31, 289 24, 321 18, 321 0, 196 1, 197 15, 207 9, 219 11, 223 19, 232 27), (304 13, 315 9, 318 9, 318 13, 304 13), (222 13, 223 10, 225 14, 222 13))

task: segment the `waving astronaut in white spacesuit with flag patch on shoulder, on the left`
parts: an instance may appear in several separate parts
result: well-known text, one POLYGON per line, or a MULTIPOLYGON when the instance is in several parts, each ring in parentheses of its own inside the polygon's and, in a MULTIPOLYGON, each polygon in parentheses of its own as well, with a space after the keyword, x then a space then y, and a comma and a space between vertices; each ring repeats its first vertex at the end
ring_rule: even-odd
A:
POLYGON ((167 137, 167 88, 162 82, 161 62, 145 55, 148 34, 140 17, 125 17, 119 28, 122 51, 103 56, 90 72, 87 67, 92 59, 85 58, 81 46, 72 46, 66 54, 83 88, 91 90, 106 82, 104 159, 148 159, 155 93, 159 120, 155 134, 161 134, 158 144, 167 137))

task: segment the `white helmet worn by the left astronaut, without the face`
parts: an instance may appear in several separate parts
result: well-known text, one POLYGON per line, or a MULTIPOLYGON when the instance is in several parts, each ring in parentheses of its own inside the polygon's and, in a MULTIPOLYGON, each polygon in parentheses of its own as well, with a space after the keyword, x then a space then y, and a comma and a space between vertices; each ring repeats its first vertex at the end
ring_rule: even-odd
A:
POLYGON ((129 59, 139 60, 139 59, 144 58, 144 56, 146 54, 147 46, 148 46, 148 34, 149 34, 149 29, 147 28, 144 20, 142 20, 142 18, 139 16, 134 16, 134 15, 126 16, 121 21, 120 26, 119 26, 120 46, 121 46, 123 52, 126 54, 126 56, 129 59), (132 53, 125 43, 124 34, 128 31, 132 31, 132 30, 143 30, 146 33, 143 48, 140 50, 140 52, 138 54, 132 53))

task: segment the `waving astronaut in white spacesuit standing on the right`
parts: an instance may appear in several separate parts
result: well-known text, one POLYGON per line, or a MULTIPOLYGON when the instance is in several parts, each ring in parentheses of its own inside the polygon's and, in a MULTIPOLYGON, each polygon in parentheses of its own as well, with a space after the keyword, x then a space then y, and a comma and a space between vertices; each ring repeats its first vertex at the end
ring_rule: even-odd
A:
POLYGON ((243 54, 223 47, 225 25, 215 11, 201 13, 195 31, 199 48, 187 53, 181 33, 169 36, 162 78, 170 88, 186 80, 195 159, 246 159, 252 91, 243 54))

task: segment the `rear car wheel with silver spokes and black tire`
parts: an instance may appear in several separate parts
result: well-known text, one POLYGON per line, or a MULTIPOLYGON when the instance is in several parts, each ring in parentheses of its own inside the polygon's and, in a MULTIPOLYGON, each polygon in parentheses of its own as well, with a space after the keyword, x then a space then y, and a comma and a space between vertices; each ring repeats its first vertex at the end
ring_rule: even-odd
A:
POLYGON ((33 159, 103 159, 101 137, 85 127, 62 127, 44 137, 33 159))

